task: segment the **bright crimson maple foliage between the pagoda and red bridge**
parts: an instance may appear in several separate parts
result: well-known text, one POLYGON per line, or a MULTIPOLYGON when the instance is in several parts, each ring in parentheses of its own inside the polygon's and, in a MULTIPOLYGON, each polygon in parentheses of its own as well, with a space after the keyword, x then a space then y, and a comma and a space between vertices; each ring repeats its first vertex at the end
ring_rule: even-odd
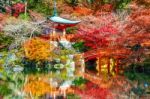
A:
POLYGON ((99 29, 84 31, 79 29, 74 39, 82 40, 85 46, 92 49, 108 47, 112 39, 111 36, 118 33, 118 30, 112 25, 106 25, 99 29))

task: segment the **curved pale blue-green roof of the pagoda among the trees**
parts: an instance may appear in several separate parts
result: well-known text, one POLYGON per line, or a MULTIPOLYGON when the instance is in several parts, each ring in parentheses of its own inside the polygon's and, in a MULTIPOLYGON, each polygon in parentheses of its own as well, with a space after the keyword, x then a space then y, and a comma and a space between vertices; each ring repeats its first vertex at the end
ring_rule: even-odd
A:
POLYGON ((77 24, 80 22, 80 21, 67 20, 67 19, 61 18, 59 16, 48 17, 48 19, 53 22, 61 23, 61 24, 77 24))

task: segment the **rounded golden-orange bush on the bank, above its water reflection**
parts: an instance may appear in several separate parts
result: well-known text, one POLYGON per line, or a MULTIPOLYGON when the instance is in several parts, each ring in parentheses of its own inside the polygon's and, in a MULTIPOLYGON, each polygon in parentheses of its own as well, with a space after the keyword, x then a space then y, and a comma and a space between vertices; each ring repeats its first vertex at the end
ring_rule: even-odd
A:
POLYGON ((50 56, 54 46, 49 44, 48 41, 40 38, 32 38, 23 45, 25 56, 30 60, 51 60, 50 56))

